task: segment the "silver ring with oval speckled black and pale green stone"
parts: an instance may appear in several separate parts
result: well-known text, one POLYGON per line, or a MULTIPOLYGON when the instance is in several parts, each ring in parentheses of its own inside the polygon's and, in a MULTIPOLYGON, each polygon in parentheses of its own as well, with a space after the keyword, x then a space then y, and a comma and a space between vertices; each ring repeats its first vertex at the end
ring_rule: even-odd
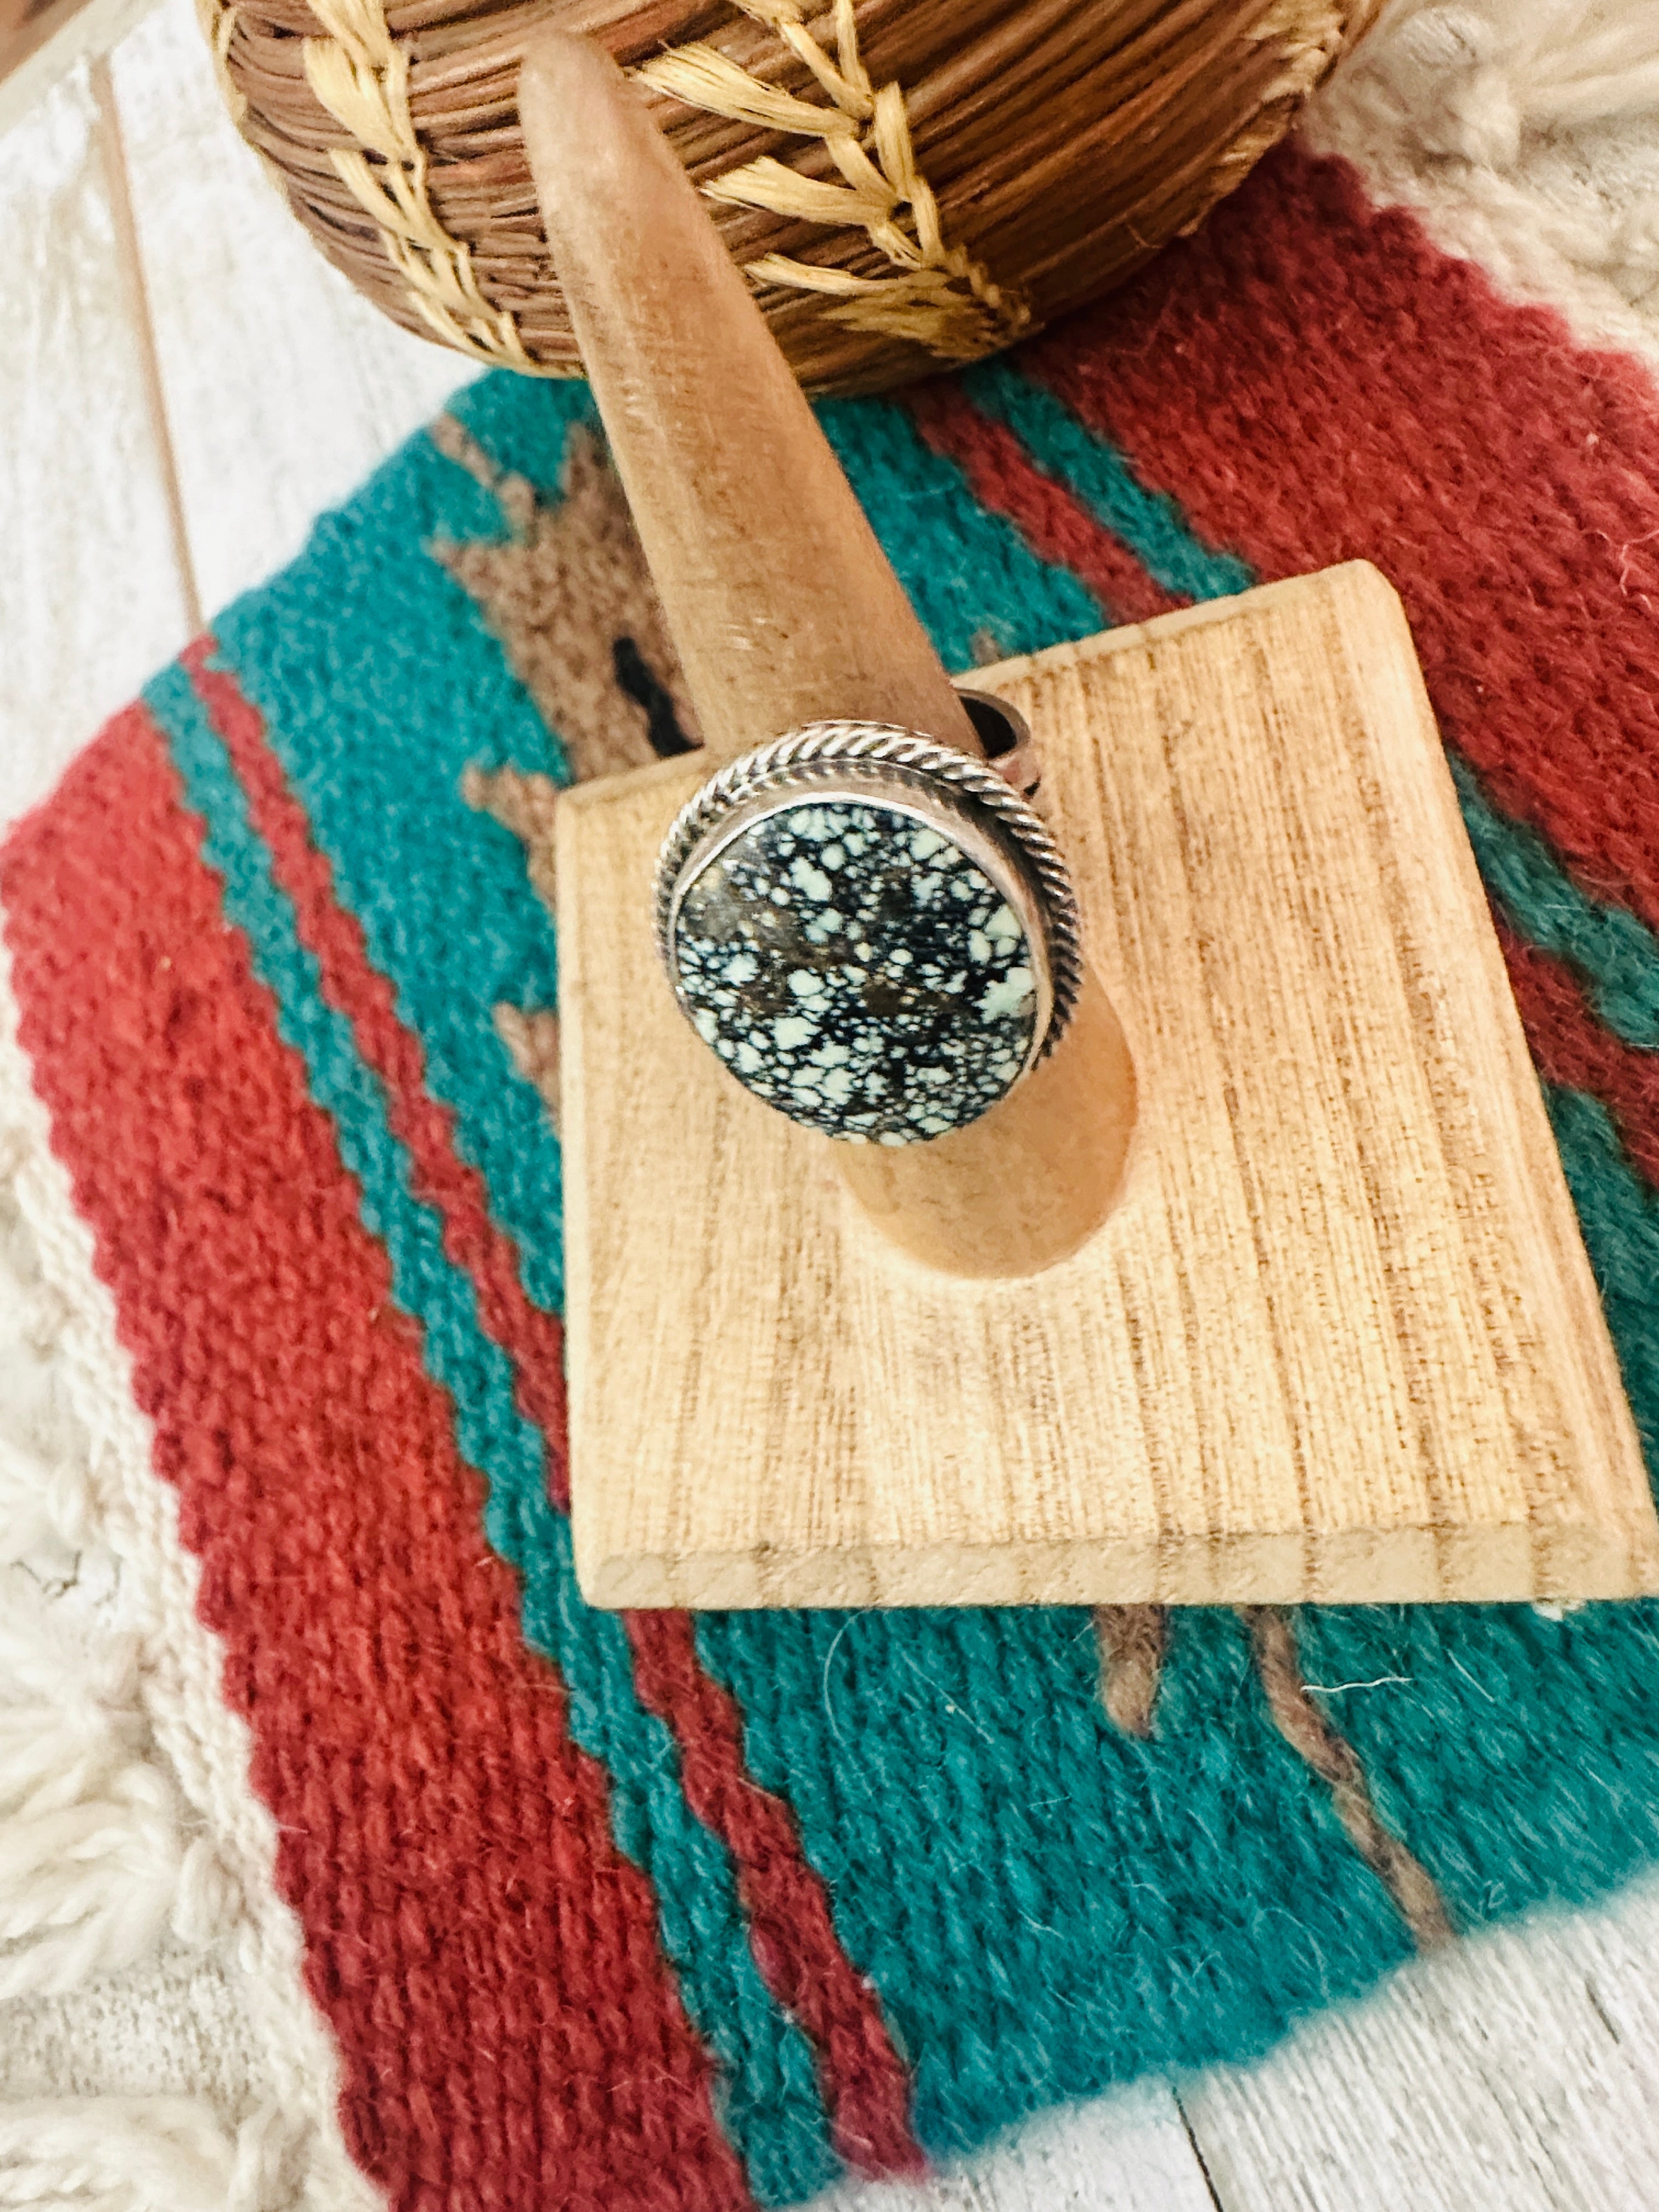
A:
POLYGON ((710 776, 664 838, 655 929, 675 998, 790 1119, 925 1141, 1060 1042, 1082 987, 1077 900, 1009 781, 1035 768, 1006 721, 1002 774, 914 730, 807 723, 710 776))

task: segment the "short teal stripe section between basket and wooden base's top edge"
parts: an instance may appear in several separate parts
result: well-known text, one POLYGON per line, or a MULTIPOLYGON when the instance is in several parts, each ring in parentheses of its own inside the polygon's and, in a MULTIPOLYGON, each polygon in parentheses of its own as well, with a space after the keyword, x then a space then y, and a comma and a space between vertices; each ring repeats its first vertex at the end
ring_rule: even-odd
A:
POLYGON ((962 389, 1020 438, 1044 476, 1057 478, 1121 538, 1166 591, 1183 599, 1225 599, 1256 582, 1248 562, 1206 546, 1168 493, 1148 491, 1115 447, 1095 438, 1062 398, 1022 376, 1013 363, 987 361, 969 369, 962 389))

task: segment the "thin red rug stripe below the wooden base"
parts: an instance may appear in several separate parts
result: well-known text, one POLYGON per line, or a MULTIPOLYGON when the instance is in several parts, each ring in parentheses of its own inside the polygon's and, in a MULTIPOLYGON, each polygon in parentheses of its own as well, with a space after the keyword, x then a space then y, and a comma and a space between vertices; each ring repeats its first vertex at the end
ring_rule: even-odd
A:
POLYGON ((830 1891, 801 1851, 794 1818, 743 1772, 743 1714, 703 1672, 690 1617, 626 1615, 641 1703, 675 1730, 686 1801, 728 1847, 765 1986, 821 2055, 841 2157, 865 2174, 925 2168, 909 2121, 909 2077, 880 2000, 841 1949, 830 1891))

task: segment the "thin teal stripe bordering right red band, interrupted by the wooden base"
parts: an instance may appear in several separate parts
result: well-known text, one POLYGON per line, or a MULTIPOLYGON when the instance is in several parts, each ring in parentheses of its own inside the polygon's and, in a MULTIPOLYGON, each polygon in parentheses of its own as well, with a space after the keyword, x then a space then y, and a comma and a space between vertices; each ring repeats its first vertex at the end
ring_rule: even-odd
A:
MULTIPOLYGON (((969 369, 962 389, 1024 442, 1048 476, 1073 491, 1166 591, 1221 599, 1256 575, 1214 553, 1168 493, 1146 491, 1128 462, 1095 438, 1046 385, 1006 361, 969 369)), ((1517 929, 1584 975, 1595 1011, 1626 1044, 1659 1048, 1659 938, 1635 914, 1582 891, 1544 838, 1484 796, 1475 770, 1447 748, 1469 843, 1493 898, 1517 929)))

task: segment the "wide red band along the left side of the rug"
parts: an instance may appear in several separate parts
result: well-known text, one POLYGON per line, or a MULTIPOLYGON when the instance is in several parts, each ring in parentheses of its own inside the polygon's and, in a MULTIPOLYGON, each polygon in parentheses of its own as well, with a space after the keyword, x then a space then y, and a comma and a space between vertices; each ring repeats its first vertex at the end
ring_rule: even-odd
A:
POLYGON ((0 891, 354 2154, 418 2212, 745 2205, 650 1887, 142 708, 18 830, 0 891))

